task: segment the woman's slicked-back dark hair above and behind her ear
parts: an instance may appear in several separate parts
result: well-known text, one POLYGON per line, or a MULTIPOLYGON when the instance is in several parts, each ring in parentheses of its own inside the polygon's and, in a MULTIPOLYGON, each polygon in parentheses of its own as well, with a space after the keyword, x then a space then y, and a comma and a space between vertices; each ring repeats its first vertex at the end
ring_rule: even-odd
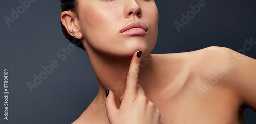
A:
MULTIPOLYGON (((75 13, 77 18, 79 17, 78 10, 77 10, 77 0, 60 0, 60 2, 61 2, 60 8, 61 8, 62 12, 70 10, 75 13)), ((65 26, 63 25, 63 23, 61 21, 60 21, 60 24, 61 24, 62 32, 63 32, 65 38, 68 39, 71 43, 75 44, 77 47, 79 47, 83 50, 86 50, 84 48, 84 46, 82 45, 82 42, 79 39, 72 37, 68 33, 68 31, 66 30, 65 26)))

